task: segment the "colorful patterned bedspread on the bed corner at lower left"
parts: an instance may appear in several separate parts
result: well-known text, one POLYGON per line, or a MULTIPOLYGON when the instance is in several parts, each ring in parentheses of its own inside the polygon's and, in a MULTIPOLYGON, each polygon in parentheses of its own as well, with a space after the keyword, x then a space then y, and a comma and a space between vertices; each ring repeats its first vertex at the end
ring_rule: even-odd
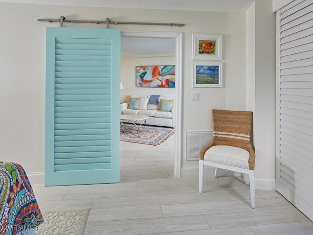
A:
POLYGON ((0 235, 34 231, 43 222, 23 167, 0 161, 0 235))

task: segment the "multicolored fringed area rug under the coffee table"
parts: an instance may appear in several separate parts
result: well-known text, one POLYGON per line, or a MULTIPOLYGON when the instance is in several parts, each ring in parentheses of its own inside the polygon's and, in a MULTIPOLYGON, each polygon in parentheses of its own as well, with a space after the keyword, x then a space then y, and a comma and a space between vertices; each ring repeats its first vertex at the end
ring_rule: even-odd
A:
POLYGON ((163 143, 174 134, 174 129, 151 128, 147 126, 143 131, 138 131, 138 133, 133 131, 132 126, 126 126, 124 129, 127 134, 121 130, 121 141, 150 144, 154 146, 163 143))

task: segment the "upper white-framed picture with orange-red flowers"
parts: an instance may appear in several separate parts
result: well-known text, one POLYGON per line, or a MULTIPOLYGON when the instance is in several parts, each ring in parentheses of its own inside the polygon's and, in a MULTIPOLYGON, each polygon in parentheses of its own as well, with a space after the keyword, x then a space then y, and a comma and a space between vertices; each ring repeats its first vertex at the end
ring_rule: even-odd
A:
POLYGON ((193 34, 194 60, 222 60, 222 35, 193 34))

